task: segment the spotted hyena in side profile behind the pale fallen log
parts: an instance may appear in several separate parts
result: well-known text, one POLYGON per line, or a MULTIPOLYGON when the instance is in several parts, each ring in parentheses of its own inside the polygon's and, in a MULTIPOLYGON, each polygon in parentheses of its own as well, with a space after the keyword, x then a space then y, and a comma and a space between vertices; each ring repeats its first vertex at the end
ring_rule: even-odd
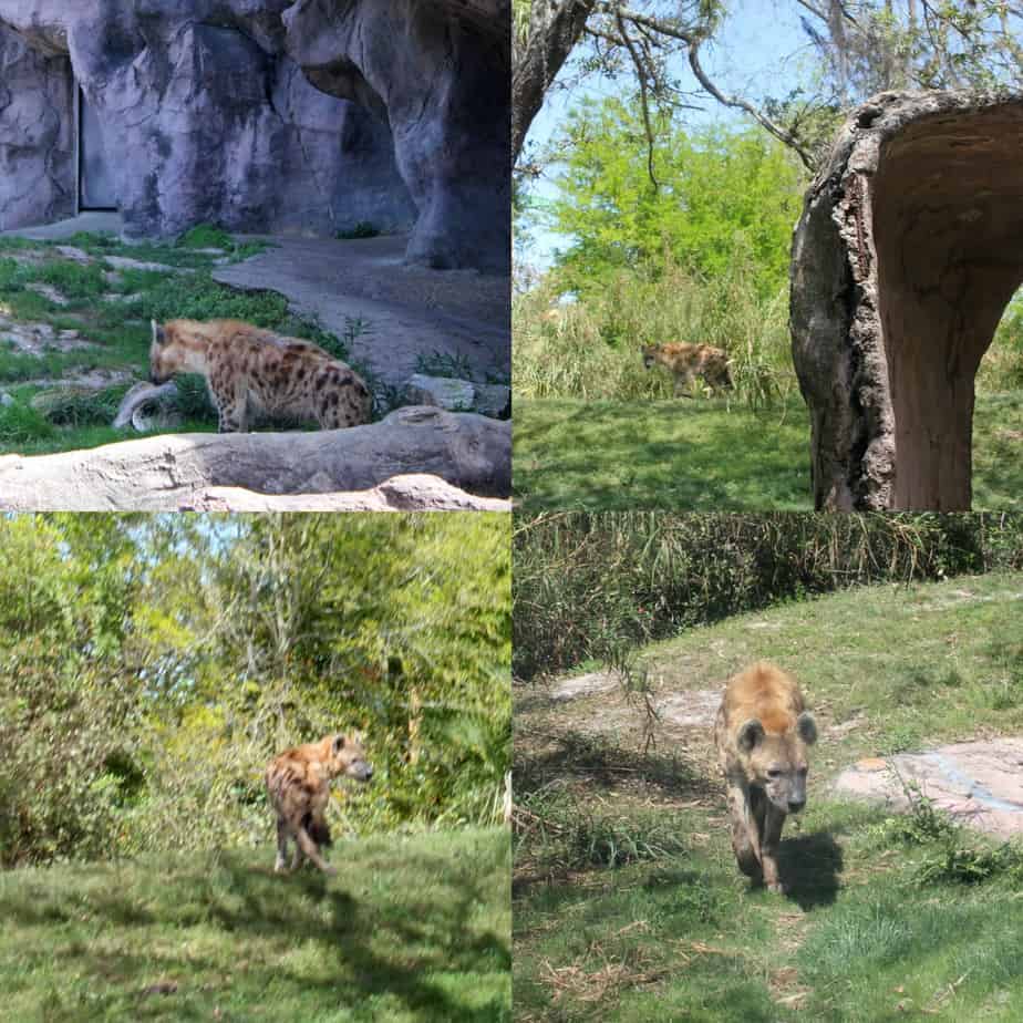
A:
POLYGON ((202 373, 220 417, 220 433, 245 432, 256 418, 314 421, 322 430, 368 423, 365 382, 329 352, 238 320, 153 321, 149 378, 202 373))

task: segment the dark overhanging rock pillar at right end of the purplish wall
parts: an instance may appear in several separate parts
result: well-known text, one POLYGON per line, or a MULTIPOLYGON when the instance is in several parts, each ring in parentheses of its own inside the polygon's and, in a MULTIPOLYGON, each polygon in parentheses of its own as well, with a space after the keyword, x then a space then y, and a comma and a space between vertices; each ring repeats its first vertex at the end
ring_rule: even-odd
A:
POLYGON ((409 258, 510 262, 510 0, 298 0, 287 49, 319 89, 386 114, 418 209, 409 258))

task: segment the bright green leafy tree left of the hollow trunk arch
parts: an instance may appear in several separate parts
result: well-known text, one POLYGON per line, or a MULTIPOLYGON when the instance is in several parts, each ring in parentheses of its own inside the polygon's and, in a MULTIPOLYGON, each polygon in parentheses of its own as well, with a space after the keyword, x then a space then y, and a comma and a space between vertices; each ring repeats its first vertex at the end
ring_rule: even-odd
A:
POLYGON ((596 296, 609 275, 653 273, 666 262, 702 277, 748 266, 762 296, 783 287, 803 177, 785 147, 758 131, 688 133, 659 117, 651 186, 642 113, 620 100, 585 103, 569 116, 568 152, 551 224, 572 238, 557 277, 596 296))

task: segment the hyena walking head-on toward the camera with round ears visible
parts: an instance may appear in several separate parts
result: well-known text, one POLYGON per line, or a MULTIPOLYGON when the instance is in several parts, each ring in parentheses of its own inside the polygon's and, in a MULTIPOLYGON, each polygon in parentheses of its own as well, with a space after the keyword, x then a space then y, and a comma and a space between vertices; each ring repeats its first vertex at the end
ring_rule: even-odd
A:
POLYGON ((806 751, 817 725, 795 679, 761 661, 725 689, 714 742, 728 786, 732 848, 743 874, 783 891, 777 848, 788 814, 806 805, 806 751))

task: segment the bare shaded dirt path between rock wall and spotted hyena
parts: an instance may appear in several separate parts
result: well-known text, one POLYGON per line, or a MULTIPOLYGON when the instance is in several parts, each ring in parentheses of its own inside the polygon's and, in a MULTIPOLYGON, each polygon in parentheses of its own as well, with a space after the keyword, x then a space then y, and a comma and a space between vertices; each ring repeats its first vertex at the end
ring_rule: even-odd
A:
POLYGON ((268 288, 293 310, 344 337, 352 320, 370 329, 351 342, 353 358, 384 383, 403 384, 418 355, 440 352, 467 363, 483 380, 510 368, 508 279, 472 270, 427 270, 403 264, 403 236, 330 238, 237 236, 273 242, 214 278, 236 288, 268 288))

